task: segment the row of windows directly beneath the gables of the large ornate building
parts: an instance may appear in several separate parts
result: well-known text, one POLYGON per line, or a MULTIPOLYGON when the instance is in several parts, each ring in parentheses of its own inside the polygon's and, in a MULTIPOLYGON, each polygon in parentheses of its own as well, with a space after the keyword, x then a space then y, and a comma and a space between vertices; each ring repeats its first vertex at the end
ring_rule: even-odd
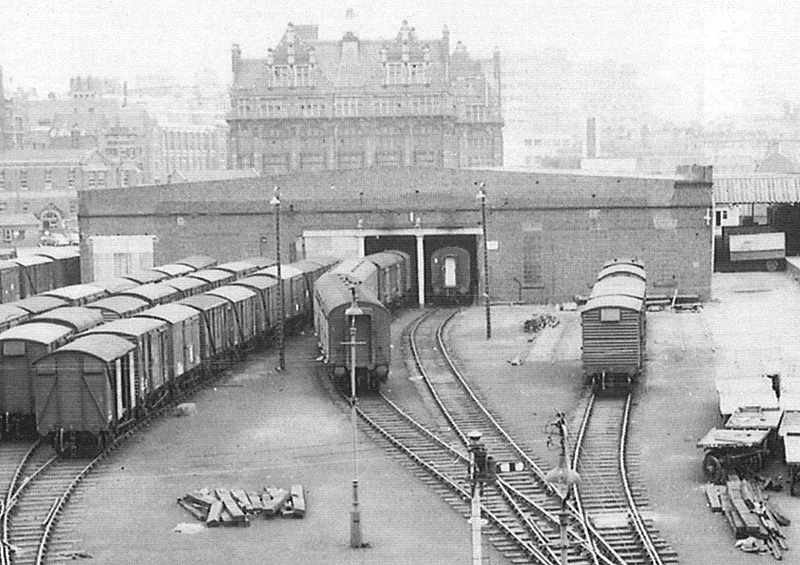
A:
MULTIPOLYGON (((239 98, 236 101, 238 115, 241 117, 273 118, 287 116, 319 117, 327 116, 331 109, 323 99, 305 99, 295 104, 285 100, 270 100, 267 98, 239 98)), ((366 98, 360 96, 336 97, 333 102, 333 115, 335 116, 360 116, 381 115, 392 116, 397 114, 434 114, 441 108, 441 96, 412 96, 412 97, 380 97, 366 98)), ((482 110, 475 110, 482 111, 482 110)))

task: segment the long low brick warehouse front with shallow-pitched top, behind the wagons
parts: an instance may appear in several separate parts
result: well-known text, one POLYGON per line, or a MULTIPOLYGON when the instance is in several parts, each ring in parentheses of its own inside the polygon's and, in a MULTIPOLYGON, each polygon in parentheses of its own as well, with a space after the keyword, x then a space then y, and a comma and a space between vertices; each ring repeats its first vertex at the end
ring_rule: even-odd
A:
POLYGON ((427 259, 436 245, 458 241, 471 250, 477 279, 477 182, 488 194, 493 300, 568 300, 588 292, 603 262, 630 256, 645 261, 650 292, 709 298, 710 167, 681 167, 674 177, 367 169, 91 190, 80 193, 79 223, 84 242, 157 236, 156 264, 197 253, 274 256, 269 201, 279 186, 283 258, 398 247, 427 259))

